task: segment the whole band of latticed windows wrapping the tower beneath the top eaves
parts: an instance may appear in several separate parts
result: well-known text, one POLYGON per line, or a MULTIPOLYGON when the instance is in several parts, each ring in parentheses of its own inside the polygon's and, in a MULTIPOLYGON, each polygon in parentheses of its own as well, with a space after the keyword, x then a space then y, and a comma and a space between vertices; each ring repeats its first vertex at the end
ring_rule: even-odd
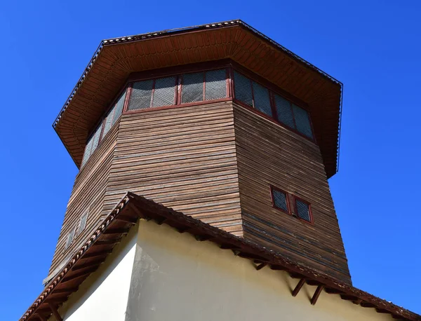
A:
POLYGON ((95 152, 123 110, 142 111, 153 107, 224 100, 229 96, 301 135, 314 139, 311 119, 305 109, 238 71, 225 67, 129 83, 89 136, 81 167, 95 152), (230 73, 232 76, 228 76, 230 73), (232 78, 232 83, 229 78, 232 78), (230 85, 234 93, 229 90, 230 85))

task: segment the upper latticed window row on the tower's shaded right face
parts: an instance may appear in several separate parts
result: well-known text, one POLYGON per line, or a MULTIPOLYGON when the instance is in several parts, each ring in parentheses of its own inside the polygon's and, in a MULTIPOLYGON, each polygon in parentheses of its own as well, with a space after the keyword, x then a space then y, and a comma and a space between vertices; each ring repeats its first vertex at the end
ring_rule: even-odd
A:
POLYGON ((247 106, 276 118, 294 130, 313 139, 312 125, 308 112, 291 103, 281 95, 270 92, 266 87, 234 71, 234 97, 247 106), (271 101, 271 97, 272 101, 271 101), (274 114, 276 113, 276 116, 274 114))

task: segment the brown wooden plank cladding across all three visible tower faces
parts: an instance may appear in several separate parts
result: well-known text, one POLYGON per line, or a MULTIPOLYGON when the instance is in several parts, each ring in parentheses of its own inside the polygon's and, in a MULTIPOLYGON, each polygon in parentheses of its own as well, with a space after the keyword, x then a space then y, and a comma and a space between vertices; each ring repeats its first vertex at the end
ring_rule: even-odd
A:
POLYGON ((232 102, 123 114, 76 177, 51 271, 127 191, 351 282, 319 146, 232 102), (274 209, 270 184, 311 203, 314 226, 274 209))

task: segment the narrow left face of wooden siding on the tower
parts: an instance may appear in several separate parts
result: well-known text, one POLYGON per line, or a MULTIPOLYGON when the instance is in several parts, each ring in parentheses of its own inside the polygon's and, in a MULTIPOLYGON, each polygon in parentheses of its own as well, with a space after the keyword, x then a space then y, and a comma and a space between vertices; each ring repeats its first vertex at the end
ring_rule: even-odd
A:
POLYGON ((55 247, 50 273, 69 257, 69 254, 79 249, 80 245, 86 242, 86 236, 92 234, 92 229, 97 225, 102 215, 105 189, 116 146, 118 128, 117 122, 76 176, 58 243, 55 247), (72 245, 65 250, 67 235, 79 224, 79 219, 86 210, 89 211, 86 227, 80 235, 75 235, 72 245))

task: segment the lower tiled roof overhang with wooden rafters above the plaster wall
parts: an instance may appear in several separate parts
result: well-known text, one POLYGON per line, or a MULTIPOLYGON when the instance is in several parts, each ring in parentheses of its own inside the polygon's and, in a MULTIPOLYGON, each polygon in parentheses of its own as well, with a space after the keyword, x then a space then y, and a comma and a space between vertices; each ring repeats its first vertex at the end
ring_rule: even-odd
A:
MULTIPOLYGON (((180 233, 194 235, 198 241, 208 240, 221 249, 232 250, 239 257, 250 259, 258 264, 257 270, 263 266, 269 266, 274 270, 286 271, 291 278, 299 278, 301 282, 317 285, 318 289, 324 289, 328 294, 339 294, 342 299, 353 301, 364 308, 375 308, 379 313, 390 313, 394 318, 403 320, 421 320, 420 315, 341 283, 313 268, 290 261, 262 245, 239 238, 198 219, 128 192, 74 254, 69 263, 51 280, 20 321, 43 320, 51 313, 58 314, 57 307, 67 301, 70 294, 78 290, 79 285, 88 278, 88 275, 96 271, 112 252, 113 247, 121 241, 123 235, 129 232, 130 227, 135 225, 138 219, 153 220, 156 224, 168 224, 180 233)), ((312 303, 315 303, 314 297, 312 303)))

